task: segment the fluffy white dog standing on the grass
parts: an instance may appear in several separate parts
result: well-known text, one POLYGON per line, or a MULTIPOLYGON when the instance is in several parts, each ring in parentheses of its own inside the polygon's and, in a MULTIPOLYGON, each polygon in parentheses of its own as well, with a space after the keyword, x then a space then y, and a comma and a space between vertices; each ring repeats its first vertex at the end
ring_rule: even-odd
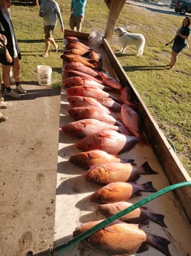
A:
POLYGON ((136 56, 143 55, 144 53, 144 44, 145 38, 140 33, 129 33, 127 30, 124 30, 123 27, 116 27, 114 29, 117 33, 118 40, 121 44, 121 53, 124 53, 128 45, 135 45, 137 49, 136 56))

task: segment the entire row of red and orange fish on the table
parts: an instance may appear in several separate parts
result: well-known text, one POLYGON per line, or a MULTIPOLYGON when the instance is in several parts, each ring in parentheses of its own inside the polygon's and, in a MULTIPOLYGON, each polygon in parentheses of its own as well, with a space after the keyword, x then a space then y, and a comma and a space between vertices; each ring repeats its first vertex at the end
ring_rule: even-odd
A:
MULTIPOLYGON (((66 40, 66 50, 61 56, 65 61, 62 86, 71 106, 68 114, 75 121, 62 126, 62 131, 80 139, 76 147, 81 152, 71 156, 70 162, 87 170, 84 174, 87 181, 103 185, 91 195, 90 200, 101 203, 98 211, 110 217, 131 206, 127 201, 141 195, 141 191, 156 191, 152 182, 138 184, 135 181, 141 174, 157 172, 147 162, 138 166, 133 160, 124 160, 118 156, 130 151, 137 143, 147 143, 130 88, 123 87, 104 72, 99 53, 85 42, 74 36, 68 36, 66 40)), ((81 243, 105 255, 145 252, 150 244, 170 256, 169 240, 140 229, 140 224, 148 224, 150 220, 167 227, 164 215, 140 207, 81 243)), ((82 224, 73 232, 73 236, 101 221, 82 224)))

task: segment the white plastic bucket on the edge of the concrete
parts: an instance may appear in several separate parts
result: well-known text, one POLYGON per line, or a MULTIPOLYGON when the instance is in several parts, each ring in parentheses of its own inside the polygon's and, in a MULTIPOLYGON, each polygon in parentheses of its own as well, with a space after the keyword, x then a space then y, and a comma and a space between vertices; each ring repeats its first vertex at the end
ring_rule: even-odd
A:
POLYGON ((38 85, 50 85, 52 68, 47 65, 38 65, 36 68, 38 85))

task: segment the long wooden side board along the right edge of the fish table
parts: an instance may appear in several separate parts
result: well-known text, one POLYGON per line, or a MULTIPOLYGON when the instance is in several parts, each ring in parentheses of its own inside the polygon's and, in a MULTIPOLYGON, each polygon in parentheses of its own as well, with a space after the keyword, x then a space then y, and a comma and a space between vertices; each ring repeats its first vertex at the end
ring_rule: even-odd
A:
MULTIPOLYGON (((110 48, 107 39, 103 39, 103 44, 108 59, 110 59, 111 65, 115 67, 115 74, 117 75, 119 82, 121 82, 122 85, 129 86, 131 88, 133 96, 135 96, 138 102, 138 112, 140 116, 142 116, 144 131, 147 134, 149 141, 153 145, 155 154, 157 154, 158 160, 163 166, 170 184, 190 181, 191 178, 189 174, 187 174, 187 171, 181 164, 180 160, 178 160, 178 157, 172 150, 170 143, 167 141, 166 137, 164 137, 164 134, 158 127, 155 119, 153 119, 153 116, 150 114, 150 111, 144 104, 144 101, 141 99, 138 91, 133 86, 130 78, 124 72, 124 69, 121 68, 121 65, 110 48)), ((177 194, 188 219, 191 221, 191 188, 181 188, 180 190, 178 189, 175 191, 175 193, 177 194)))

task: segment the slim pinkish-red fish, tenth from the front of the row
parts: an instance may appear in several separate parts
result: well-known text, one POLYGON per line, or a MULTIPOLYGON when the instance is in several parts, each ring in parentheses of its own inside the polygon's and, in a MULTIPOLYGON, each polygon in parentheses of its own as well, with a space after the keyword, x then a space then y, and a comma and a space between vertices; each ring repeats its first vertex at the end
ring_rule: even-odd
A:
POLYGON ((96 99, 99 98, 112 98, 114 100, 118 100, 117 97, 107 93, 106 91, 101 90, 100 88, 96 87, 95 85, 78 85, 67 88, 67 94, 70 96, 86 96, 86 97, 93 97, 96 99))

